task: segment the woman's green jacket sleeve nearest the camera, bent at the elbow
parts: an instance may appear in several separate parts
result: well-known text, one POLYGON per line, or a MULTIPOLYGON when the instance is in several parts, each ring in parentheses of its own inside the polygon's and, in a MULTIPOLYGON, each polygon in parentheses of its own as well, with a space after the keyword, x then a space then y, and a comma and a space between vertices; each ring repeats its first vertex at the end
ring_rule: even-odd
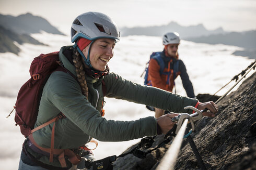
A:
POLYGON ((68 120, 83 133, 100 141, 126 141, 157 134, 157 123, 153 116, 136 121, 106 120, 82 95, 79 84, 67 73, 54 72, 44 91, 49 103, 54 104, 68 120))

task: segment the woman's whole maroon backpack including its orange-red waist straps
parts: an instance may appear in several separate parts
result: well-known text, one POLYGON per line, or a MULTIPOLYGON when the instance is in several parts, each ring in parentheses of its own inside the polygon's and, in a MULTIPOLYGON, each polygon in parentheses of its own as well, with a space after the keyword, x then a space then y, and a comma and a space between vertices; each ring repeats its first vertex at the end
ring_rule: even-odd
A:
MULTIPOLYGON (((59 51, 49 54, 41 54, 40 56, 34 58, 29 69, 31 78, 24 85, 21 86, 17 96, 16 104, 14 107, 16 110, 14 119, 16 122, 15 125, 20 126, 20 132, 25 137, 29 137, 33 144, 37 146, 40 150, 50 153, 50 162, 53 161, 53 154, 58 154, 59 161, 62 167, 66 167, 64 155, 68 156, 69 161, 71 161, 72 164, 77 164, 80 162, 80 160, 76 157, 77 155, 75 155, 75 153, 69 149, 53 148, 55 122, 65 117, 65 115, 60 113, 52 120, 34 128, 34 124, 36 123, 38 116, 38 109, 42 96, 43 87, 46 81, 49 79, 51 73, 53 73, 54 71, 63 71, 69 73, 78 82, 77 78, 70 71, 61 66, 61 63, 59 61, 59 51), (31 134, 36 130, 41 129, 42 127, 47 126, 51 123, 54 123, 51 134, 51 148, 42 148, 37 145, 31 134)), ((106 87, 104 86, 104 82, 102 82, 102 90, 105 91, 105 88, 106 87)), ((96 141, 91 142, 96 143, 97 147, 96 141)), ((85 150, 89 149, 85 147, 85 150)))

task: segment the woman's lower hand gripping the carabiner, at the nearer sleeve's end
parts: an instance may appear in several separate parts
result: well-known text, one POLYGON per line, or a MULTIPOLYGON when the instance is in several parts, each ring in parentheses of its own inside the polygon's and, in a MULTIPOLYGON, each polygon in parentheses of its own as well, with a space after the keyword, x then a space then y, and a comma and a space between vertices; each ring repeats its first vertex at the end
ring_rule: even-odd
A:
POLYGON ((178 116, 179 114, 173 113, 173 114, 165 114, 160 117, 158 117, 157 124, 160 126, 161 133, 166 134, 170 129, 172 129, 175 122, 171 121, 172 117, 178 116))

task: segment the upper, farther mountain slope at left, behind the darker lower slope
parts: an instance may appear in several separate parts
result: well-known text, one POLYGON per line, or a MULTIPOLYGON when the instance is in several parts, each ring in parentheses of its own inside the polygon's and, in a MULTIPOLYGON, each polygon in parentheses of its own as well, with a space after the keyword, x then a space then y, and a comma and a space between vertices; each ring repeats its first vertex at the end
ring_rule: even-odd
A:
POLYGON ((33 34, 45 31, 47 33, 64 35, 44 18, 33 16, 30 13, 17 17, 0 14, 0 25, 18 34, 33 34))

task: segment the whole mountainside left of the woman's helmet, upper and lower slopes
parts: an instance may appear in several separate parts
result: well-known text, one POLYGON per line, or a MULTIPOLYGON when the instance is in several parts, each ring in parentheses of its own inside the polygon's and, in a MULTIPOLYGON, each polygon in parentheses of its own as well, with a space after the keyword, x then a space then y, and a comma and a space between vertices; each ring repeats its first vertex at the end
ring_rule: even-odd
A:
POLYGON ((20 49, 14 42, 45 45, 29 35, 41 31, 64 35, 44 18, 30 13, 17 17, 0 14, 0 53, 10 52, 18 55, 20 49))

